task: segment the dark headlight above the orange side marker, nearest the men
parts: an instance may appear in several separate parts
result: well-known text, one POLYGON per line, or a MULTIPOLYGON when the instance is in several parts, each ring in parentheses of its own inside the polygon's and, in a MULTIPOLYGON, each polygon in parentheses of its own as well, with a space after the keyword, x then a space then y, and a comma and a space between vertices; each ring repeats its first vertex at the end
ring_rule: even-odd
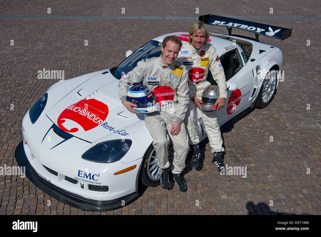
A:
POLYGON ((112 163, 123 158, 131 145, 132 140, 129 139, 105 141, 83 153, 82 159, 99 163, 112 163))

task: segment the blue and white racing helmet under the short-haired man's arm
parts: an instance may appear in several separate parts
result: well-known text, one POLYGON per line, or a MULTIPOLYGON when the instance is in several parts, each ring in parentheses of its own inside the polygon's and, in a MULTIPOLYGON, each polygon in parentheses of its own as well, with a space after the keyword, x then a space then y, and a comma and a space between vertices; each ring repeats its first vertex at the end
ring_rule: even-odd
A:
POLYGON ((136 84, 129 87, 127 101, 137 105, 133 107, 139 113, 152 113, 157 111, 158 102, 151 89, 143 84, 136 84))

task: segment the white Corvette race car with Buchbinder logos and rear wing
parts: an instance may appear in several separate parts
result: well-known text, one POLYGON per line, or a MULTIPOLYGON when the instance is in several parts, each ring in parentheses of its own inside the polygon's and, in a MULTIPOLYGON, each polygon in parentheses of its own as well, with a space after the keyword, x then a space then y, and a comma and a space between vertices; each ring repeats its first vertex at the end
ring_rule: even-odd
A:
MULTIPOLYGON (((292 29, 215 15, 199 19, 229 31, 229 35, 211 33, 208 40, 217 49, 228 87, 227 106, 217 111, 224 129, 255 107, 267 106, 282 78, 281 49, 259 42, 258 36, 283 40, 292 29), (256 38, 232 35, 233 27, 252 31, 256 38)), ((31 182, 53 198, 89 211, 126 205, 138 196, 139 182, 160 184, 144 115, 126 110, 117 86, 137 62, 160 56, 161 42, 168 35, 176 35, 183 43, 189 38, 188 32, 154 38, 134 53, 127 51, 117 67, 57 82, 32 106, 23 118, 23 141, 15 151, 31 182)), ((211 73, 207 80, 215 84, 211 73)), ((195 115, 195 123, 205 142, 200 114, 195 115)))

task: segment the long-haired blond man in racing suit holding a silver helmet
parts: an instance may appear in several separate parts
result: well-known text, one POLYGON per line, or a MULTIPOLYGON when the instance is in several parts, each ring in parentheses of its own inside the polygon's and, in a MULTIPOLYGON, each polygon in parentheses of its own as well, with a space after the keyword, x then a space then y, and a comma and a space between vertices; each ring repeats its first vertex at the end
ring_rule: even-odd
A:
MULTIPOLYGON (((185 124, 187 125, 189 143, 193 144, 194 154, 191 159, 193 168, 199 165, 200 151, 198 147, 199 138, 195 127, 195 106, 200 110, 207 136, 214 154, 212 163, 217 166, 218 170, 225 169, 223 162, 223 141, 221 138, 220 126, 217 123, 216 110, 212 112, 203 112, 201 104, 204 89, 211 85, 206 80, 208 70, 211 70, 213 79, 217 82, 220 91, 220 97, 217 99, 215 106, 220 110, 225 105, 227 98, 226 80, 224 70, 216 49, 207 44, 209 32, 203 22, 194 23, 189 30, 189 42, 184 44, 178 55, 178 61, 188 68, 189 76, 189 97, 191 101, 188 105, 185 124)), ((223 173, 227 174, 227 172, 223 173)))

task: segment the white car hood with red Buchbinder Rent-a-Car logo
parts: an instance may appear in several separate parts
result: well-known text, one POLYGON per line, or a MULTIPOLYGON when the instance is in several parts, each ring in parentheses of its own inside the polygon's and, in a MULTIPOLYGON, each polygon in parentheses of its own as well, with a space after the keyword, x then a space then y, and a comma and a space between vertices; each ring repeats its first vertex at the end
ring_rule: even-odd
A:
POLYGON ((125 127, 143 120, 143 114, 132 114, 122 105, 118 82, 110 72, 100 73, 68 93, 46 114, 61 130, 85 141, 94 142, 108 134, 114 134, 113 139, 128 138, 125 127))

